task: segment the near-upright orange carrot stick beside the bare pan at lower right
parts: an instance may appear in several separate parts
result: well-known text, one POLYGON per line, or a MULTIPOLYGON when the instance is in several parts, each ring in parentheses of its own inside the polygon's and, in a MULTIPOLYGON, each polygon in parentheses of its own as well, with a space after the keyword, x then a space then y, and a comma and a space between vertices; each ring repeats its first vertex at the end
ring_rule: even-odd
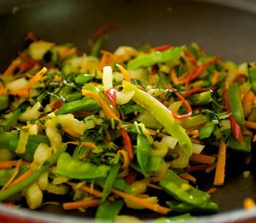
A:
POLYGON ((222 186, 224 184, 225 177, 225 163, 226 163, 226 144, 223 139, 220 140, 216 172, 214 176, 214 186, 222 186))

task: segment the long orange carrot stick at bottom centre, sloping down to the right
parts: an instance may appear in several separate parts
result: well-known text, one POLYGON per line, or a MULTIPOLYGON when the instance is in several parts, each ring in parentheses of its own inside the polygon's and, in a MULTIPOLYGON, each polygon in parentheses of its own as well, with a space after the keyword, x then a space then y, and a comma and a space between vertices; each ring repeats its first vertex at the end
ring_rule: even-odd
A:
POLYGON ((122 197, 123 199, 126 199, 126 200, 128 200, 132 203, 137 203, 137 204, 141 205, 142 207, 145 207, 145 208, 148 208, 152 211, 155 211, 156 213, 159 213, 159 214, 162 214, 162 215, 167 215, 168 212, 171 211, 171 209, 168 208, 168 207, 161 206, 158 203, 145 202, 143 199, 141 199, 139 197, 136 197, 134 195, 122 192, 120 190, 112 189, 111 191, 114 192, 116 195, 122 197))

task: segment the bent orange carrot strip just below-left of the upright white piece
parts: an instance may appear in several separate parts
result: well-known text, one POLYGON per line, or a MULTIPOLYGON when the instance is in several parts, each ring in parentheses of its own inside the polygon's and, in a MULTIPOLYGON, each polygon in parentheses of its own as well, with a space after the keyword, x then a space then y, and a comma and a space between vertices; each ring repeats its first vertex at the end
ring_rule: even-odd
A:
POLYGON ((120 122, 120 119, 117 117, 115 112, 112 111, 112 109, 107 105, 107 103, 97 94, 95 94, 92 91, 88 91, 85 89, 82 89, 82 94, 84 96, 88 96, 90 98, 94 98, 101 106, 103 112, 107 115, 109 119, 115 119, 118 122, 120 122))

